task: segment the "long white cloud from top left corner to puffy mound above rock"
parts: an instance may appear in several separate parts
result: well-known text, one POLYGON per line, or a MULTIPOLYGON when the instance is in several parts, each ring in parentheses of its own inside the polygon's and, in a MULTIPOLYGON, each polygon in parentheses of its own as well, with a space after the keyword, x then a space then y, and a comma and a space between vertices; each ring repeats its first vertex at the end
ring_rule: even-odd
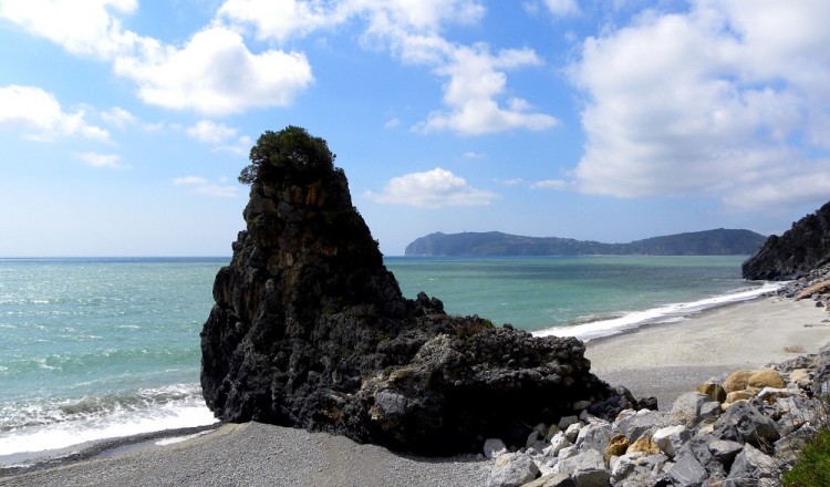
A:
POLYGON ((125 30, 120 15, 135 0, 27 0, 0 2, 0 18, 79 55, 112 62, 148 104, 208 114, 284 106, 312 83, 304 54, 251 52, 242 37, 211 24, 184 45, 167 45, 125 30))

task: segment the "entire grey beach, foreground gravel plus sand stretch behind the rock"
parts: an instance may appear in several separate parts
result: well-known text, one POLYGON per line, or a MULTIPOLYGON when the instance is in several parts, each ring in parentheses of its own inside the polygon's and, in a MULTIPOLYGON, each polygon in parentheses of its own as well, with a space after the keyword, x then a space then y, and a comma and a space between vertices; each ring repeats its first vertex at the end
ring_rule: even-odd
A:
MULTIPOLYGON (((764 298, 588 343, 592 370, 661 408, 709 377, 762 367, 830 341, 815 302, 764 298)), ((124 443, 129 444, 129 439, 124 443)), ((262 424, 224 425, 166 446, 121 447, 32 472, 0 470, 10 486, 483 486, 490 464, 419 458, 344 437, 262 424)))

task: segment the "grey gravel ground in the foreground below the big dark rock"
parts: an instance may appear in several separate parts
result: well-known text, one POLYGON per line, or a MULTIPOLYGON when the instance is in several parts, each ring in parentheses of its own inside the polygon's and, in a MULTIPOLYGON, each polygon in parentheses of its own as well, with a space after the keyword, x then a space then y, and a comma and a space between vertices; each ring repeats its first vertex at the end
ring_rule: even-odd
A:
POLYGON ((422 458, 342 436, 259 423, 224 425, 181 443, 20 472, 2 486, 483 486, 474 456, 422 458))

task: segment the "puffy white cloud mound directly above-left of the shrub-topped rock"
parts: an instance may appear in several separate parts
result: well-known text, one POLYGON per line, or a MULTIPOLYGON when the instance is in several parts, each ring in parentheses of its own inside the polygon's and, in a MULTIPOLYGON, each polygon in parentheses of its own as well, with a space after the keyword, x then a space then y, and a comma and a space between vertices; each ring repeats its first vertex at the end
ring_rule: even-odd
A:
POLYGON ((208 114, 286 106, 313 81, 304 54, 253 54, 241 35, 222 27, 196 33, 181 49, 120 58, 115 72, 135 81, 146 103, 208 114))

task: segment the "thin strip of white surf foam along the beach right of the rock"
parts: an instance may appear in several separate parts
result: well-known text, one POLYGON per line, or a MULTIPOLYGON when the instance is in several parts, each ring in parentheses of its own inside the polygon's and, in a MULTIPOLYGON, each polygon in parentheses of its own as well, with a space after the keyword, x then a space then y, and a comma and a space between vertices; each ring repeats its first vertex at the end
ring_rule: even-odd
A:
POLYGON ((535 331, 536 336, 575 336, 582 341, 590 341, 600 336, 610 336, 622 333, 649 323, 674 323, 683 321, 688 317, 712 308, 748 301, 760 296, 774 292, 786 286, 786 282, 765 282, 753 289, 744 289, 727 294, 706 298, 698 301, 671 303, 644 311, 635 311, 620 318, 599 320, 584 324, 570 327, 553 327, 535 331))

